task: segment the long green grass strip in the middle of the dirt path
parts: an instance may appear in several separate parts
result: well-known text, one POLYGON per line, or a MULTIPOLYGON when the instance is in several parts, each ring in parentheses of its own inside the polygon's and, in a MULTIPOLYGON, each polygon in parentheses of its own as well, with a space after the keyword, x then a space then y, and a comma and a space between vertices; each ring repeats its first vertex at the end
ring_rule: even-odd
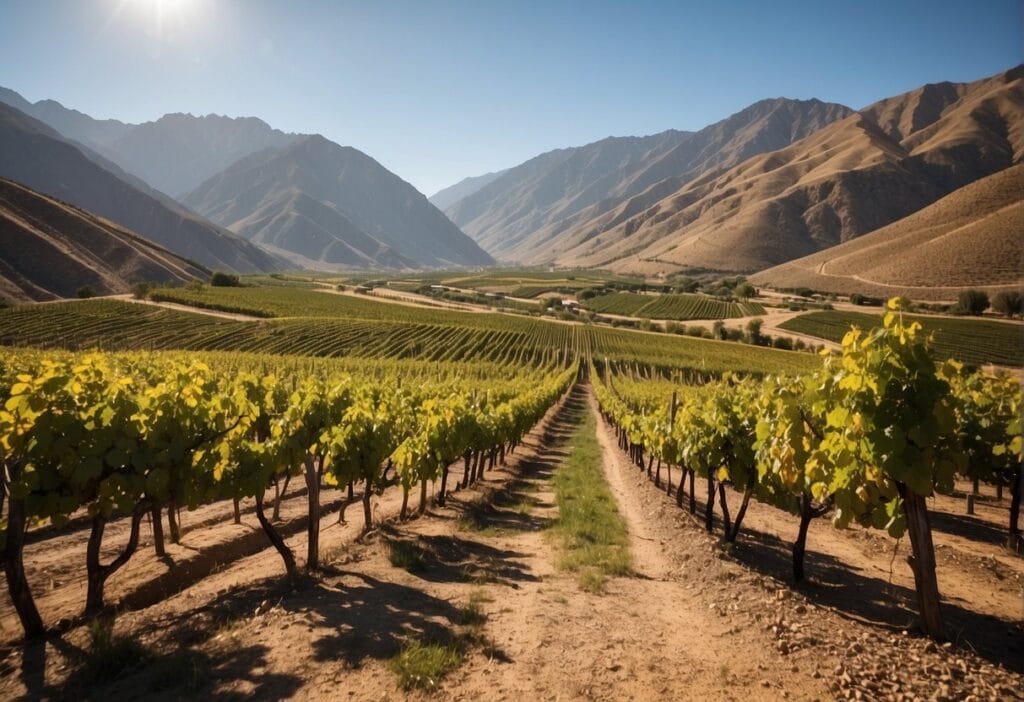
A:
POLYGON ((553 479, 558 518, 551 533, 562 544, 559 567, 577 573, 583 589, 600 593, 609 577, 630 572, 629 532, 604 481, 591 412, 569 444, 572 449, 553 479))

